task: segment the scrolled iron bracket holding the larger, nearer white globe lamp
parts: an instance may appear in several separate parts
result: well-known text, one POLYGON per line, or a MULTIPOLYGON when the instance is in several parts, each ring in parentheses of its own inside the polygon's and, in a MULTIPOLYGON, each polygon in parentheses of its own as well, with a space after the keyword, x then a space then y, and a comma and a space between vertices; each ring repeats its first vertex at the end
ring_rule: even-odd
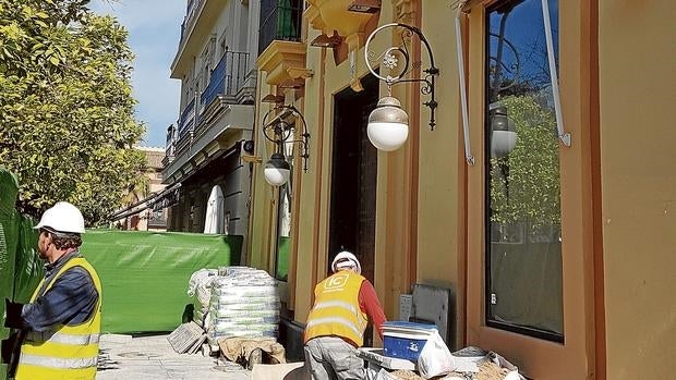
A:
MULTIPOLYGON (((423 102, 423 105, 430 108, 430 111, 431 111, 430 128, 434 131, 434 126, 436 125, 434 113, 438 106, 438 102, 436 101, 436 97, 435 97, 434 86, 435 86, 436 76, 439 75, 439 69, 434 65, 434 56, 432 54, 430 42, 427 42, 427 39, 422 34, 422 32, 415 26, 401 24, 401 23, 391 23, 391 24, 382 25, 375 30, 373 30, 373 33, 371 33, 371 35, 366 39, 366 44, 364 46, 364 58, 365 58, 366 66, 369 68, 369 71, 375 77, 377 77, 378 79, 387 84, 388 93, 391 93, 391 86, 398 83, 420 82, 423 84, 420 87, 420 93, 422 95, 430 95, 430 100, 423 102), (391 46, 385 49, 385 51, 383 51, 378 56, 376 56, 373 51, 369 49, 369 45, 371 44, 371 40, 373 39, 373 37, 375 37, 376 34, 378 34, 378 32, 386 29, 386 28, 396 28, 396 27, 400 27, 405 29, 403 33, 401 34, 401 45, 391 46), (410 54, 409 54, 408 44, 410 44, 413 35, 418 36, 422 45, 427 50, 427 56, 430 57, 430 68, 423 70, 423 73, 425 75, 424 77, 420 77, 420 78, 407 77, 411 73, 412 71, 411 69, 418 69, 422 64, 421 62, 414 62, 412 65, 410 65, 410 54), (393 71, 399 66, 399 60, 397 59, 397 54, 399 54, 402 58, 403 68, 398 73, 395 73, 396 75, 394 76, 393 75, 383 76, 379 73, 377 73, 375 69, 372 66, 372 62, 379 61, 379 63, 383 66, 393 71)), ((388 94, 388 95, 391 95, 391 94, 388 94)))

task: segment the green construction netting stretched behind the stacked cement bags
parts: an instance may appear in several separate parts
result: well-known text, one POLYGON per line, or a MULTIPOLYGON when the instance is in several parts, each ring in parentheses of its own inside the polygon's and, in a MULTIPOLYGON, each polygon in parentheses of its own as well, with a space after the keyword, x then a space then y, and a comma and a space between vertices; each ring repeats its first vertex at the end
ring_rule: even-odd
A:
POLYGON ((239 263, 242 236, 93 230, 82 253, 104 286, 104 332, 176 329, 192 309, 193 272, 239 263))

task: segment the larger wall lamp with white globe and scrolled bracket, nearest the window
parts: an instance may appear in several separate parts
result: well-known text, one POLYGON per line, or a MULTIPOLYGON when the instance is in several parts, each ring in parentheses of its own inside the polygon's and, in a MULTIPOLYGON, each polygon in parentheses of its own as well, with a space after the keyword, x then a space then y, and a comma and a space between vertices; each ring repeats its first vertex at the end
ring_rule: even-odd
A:
POLYGON ((369 115, 369 126, 366 132, 371 143, 381 150, 391 151, 398 149, 408 138, 408 114, 401 109, 401 103, 399 100, 391 97, 391 86, 398 83, 419 82, 422 84, 420 93, 422 95, 430 95, 430 100, 423 102, 423 105, 430 108, 430 130, 434 131, 434 126, 436 125, 434 113, 438 106, 435 98, 434 85, 436 76, 439 75, 439 69, 434 65, 434 56, 432 54, 430 42, 427 42, 427 39, 422 32, 415 26, 401 23, 382 25, 373 30, 369 38, 366 38, 366 44, 364 46, 364 59, 369 71, 371 71, 375 77, 387 84, 388 93, 386 97, 378 101, 376 109, 369 115), (401 45, 391 46, 385 49, 385 51, 379 56, 376 56, 374 52, 369 50, 369 44, 371 44, 371 40, 378 32, 386 28, 397 27, 403 28, 403 33, 401 34, 401 45), (420 66, 418 63, 409 66, 410 56, 408 44, 413 35, 418 36, 427 50, 427 56, 430 57, 430 68, 423 70, 425 75, 420 78, 408 77, 411 71, 410 69, 420 66), (381 61, 381 64, 389 69, 391 72, 399 66, 399 59, 397 57, 402 59, 403 68, 401 71, 395 73, 394 76, 382 76, 371 65, 372 61, 381 61))

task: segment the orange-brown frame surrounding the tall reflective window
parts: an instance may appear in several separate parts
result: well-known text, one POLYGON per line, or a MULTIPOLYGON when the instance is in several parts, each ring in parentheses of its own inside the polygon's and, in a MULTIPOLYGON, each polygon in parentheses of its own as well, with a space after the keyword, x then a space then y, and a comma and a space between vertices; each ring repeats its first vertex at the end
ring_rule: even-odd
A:
MULTIPOLYGON (((592 163, 597 149, 590 143, 593 119, 589 97, 594 77, 590 40, 595 21, 592 3, 560 0, 559 7, 559 93, 562 111, 574 144, 560 143, 563 312, 566 340, 556 343, 496 329, 485 323, 486 204, 485 204, 485 17, 497 1, 472 1, 464 11, 463 48, 469 94, 469 130, 476 144, 474 166, 467 170, 467 304, 469 345, 493 350, 519 366, 532 378, 584 379, 595 370, 594 315, 594 225, 592 163), (586 98, 587 97, 587 98, 586 98)), ((597 125, 596 125, 597 127, 597 125)), ((600 364, 602 365, 602 364, 600 364)))

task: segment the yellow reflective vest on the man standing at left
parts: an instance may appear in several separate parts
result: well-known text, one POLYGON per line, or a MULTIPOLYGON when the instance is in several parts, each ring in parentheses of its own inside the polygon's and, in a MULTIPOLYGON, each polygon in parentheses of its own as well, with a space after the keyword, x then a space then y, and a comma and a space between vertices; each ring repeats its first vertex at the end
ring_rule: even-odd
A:
MULTIPOLYGON (((21 346, 16 380, 89 380, 96 378, 98 339, 101 330, 101 282, 92 265, 83 257, 73 257, 59 270, 45 289, 46 293, 67 270, 82 267, 89 272, 98 292, 96 311, 77 326, 59 324, 50 331, 29 331, 21 346)), ((45 279, 31 302, 38 297, 45 279)), ((44 294, 43 293, 43 294, 44 294)))

